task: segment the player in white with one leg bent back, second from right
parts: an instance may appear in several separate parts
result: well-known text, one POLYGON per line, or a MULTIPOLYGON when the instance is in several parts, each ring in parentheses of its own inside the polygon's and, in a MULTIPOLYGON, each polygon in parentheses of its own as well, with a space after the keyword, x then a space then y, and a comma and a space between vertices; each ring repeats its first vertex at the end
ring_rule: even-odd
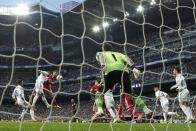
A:
POLYGON ((176 115, 178 116, 177 112, 169 112, 169 95, 166 92, 160 91, 158 87, 154 87, 154 92, 156 99, 160 101, 162 111, 163 111, 163 117, 164 117, 164 123, 167 122, 167 115, 176 115))

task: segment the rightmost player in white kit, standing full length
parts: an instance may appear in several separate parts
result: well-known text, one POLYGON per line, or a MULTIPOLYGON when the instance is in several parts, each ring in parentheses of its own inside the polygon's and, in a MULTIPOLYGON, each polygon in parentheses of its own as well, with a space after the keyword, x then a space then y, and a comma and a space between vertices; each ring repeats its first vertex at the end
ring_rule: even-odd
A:
POLYGON ((191 108, 189 107, 190 93, 187 89, 187 84, 184 76, 181 74, 180 68, 174 68, 173 74, 176 76, 176 84, 170 90, 176 89, 178 91, 178 101, 180 108, 186 115, 185 123, 192 122, 193 116, 191 108))

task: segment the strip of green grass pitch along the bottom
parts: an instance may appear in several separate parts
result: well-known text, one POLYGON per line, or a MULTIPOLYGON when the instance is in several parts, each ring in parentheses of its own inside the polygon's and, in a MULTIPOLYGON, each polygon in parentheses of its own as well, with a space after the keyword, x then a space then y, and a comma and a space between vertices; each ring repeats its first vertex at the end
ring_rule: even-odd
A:
POLYGON ((196 131, 196 124, 0 122, 0 131, 196 131), (91 125, 91 126, 90 126, 91 125))

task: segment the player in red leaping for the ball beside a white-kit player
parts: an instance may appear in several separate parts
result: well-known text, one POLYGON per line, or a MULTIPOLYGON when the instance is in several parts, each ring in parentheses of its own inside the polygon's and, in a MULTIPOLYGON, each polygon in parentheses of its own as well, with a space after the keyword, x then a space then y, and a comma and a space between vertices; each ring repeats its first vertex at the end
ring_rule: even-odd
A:
POLYGON ((52 81, 54 81, 54 79, 58 76, 58 71, 54 70, 51 73, 48 74, 47 76, 47 80, 43 83, 43 89, 44 92, 47 93, 51 100, 52 100, 52 107, 58 107, 60 108, 60 106, 57 104, 56 99, 53 97, 53 92, 52 92, 52 81))

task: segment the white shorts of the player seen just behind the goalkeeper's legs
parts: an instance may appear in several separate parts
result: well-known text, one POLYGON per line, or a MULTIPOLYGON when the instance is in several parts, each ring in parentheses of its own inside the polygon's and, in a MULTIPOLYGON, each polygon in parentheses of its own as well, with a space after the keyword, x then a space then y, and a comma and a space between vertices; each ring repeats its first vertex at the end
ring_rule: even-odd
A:
POLYGON ((104 101, 107 109, 115 107, 115 101, 112 94, 105 94, 104 101))

